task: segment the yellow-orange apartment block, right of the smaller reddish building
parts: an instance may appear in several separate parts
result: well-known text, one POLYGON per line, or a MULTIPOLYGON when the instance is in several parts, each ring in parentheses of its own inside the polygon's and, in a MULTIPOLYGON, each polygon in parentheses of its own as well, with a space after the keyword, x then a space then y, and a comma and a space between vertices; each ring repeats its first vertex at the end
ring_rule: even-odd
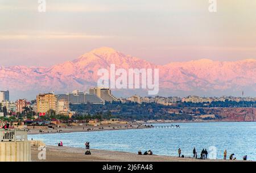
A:
POLYGON ((57 96, 48 94, 39 94, 36 96, 36 106, 38 113, 47 113, 49 110, 57 111, 57 96))

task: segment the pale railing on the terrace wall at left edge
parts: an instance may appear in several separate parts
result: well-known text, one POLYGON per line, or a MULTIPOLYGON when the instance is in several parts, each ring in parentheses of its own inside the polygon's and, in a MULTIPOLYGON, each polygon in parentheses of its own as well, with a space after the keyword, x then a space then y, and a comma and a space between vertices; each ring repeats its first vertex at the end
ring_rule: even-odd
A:
POLYGON ((27 131, 24 130, 0 130, 0 142, 27 141, 27 131))

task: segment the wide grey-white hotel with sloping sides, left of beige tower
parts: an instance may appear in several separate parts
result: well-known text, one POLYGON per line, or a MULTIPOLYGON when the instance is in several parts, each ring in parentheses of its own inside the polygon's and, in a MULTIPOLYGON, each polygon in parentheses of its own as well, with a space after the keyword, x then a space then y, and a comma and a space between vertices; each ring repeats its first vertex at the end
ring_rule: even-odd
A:
POLYGON ((71 93, 58 95, 59 100, 67 100, 70 104, 105 104, 96 94, 88 94, 75 90, 71 93))

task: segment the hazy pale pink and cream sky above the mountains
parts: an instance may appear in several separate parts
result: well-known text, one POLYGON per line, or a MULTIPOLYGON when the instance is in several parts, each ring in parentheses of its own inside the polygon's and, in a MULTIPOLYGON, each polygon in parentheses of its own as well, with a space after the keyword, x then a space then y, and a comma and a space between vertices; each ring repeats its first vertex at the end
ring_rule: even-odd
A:
POLYGON ((0 0, 1 66, 50 66, 112 47, 155 64, 256 58, 256 1, 0 0))

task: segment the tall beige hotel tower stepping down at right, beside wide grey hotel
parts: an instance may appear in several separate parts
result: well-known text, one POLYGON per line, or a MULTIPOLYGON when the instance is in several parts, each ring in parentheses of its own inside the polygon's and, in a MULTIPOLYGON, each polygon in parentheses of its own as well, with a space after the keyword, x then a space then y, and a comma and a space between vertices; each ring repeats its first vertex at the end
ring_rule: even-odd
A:
POLYGON ((97 95, 98 98, 101 98, 102 100, 104 100, 104 102, 112 103, 113 101, 114 102, 118 101, 118 99, 112 95, 111 90, 109 88, 99 88, 99 87, 90 88, 89 94, 97 95))

